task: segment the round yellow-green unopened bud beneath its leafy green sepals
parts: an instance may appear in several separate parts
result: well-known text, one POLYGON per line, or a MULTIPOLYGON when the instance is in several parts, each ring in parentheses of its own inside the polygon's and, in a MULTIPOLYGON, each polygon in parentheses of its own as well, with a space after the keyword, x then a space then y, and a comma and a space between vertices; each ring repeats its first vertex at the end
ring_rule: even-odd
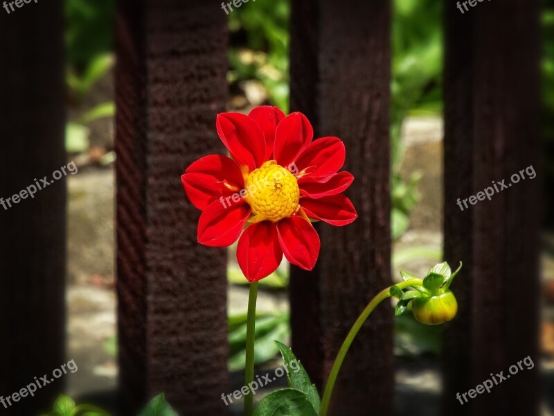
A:
POLYGON ((446 289, 431 297, 418 297, 413 300, 411 311, 416 320, 422 324, 438 325, 448 322, 458 312, 458 302, 454 293, 446 289))

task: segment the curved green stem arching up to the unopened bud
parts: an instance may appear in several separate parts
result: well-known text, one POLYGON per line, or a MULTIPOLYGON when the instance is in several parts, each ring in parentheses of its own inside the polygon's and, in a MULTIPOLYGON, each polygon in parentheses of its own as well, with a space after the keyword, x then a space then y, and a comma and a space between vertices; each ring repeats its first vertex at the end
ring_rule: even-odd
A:
MULTIPOLYGON (((420 279, 411 279, 407 281, 402 281, 396 286, 398 286, 401 289, 405 289, 408 286, 422 285, 422 284, 423 284, 423 281, 420 279)), ((331 401, 331 395, 333 392, 334 383, 335 381, 337 381, 337 376, 339 375, 339 371, 341 370, 342 362, 344 361, 344 357, 346 357, 346 353, 348 352, 350 345, 352 345, 352 341, 354 340, 354 338, 356 338, 356 335, 361 329, 361 326, 364 324, 364 322, 366 322, 369 315, 373 312, 373 309, 375 309, 379 303, 381 303, 383 300, 385 300, 387 297, 390 297, 390 296, 391 296, 390 286, 384 289, 384 291, 377 293, 377 295, 375 295, 375 297, 373 297, 373 299, 368 303, 368 306, 366 306, 366 309, 364 309, 361 315, 359 315, 356 322, 354 322, 354 325, 352 325, 350 332, 348 332, 346 339, 342 343, 341 349, 339 349, 339 354, 337 354, 337 358, 334 359, 334 363, 331 368, 331 372, 329 373, 329 378, 327 379, 325 390, 323 392, 323 399, 321 399, 319 416, 327 416, 327 410, 329 408, 329 403, 331 401)))

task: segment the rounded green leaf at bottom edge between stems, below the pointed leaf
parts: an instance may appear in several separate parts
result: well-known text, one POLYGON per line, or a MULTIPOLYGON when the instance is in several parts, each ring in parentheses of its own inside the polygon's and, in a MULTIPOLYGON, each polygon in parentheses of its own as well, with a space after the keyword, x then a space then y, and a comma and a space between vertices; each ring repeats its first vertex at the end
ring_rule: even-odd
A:
POLYGON ((317 412, 305 392, 285 388, 264 397, 254 416, 317 416, 317 412))

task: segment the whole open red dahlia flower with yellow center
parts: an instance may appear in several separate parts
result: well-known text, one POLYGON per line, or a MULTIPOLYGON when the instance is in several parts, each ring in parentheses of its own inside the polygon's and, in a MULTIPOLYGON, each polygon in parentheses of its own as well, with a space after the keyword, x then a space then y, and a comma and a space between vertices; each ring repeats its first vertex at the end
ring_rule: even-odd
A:
POLYGON ((203 211, 198 242, 226 247, 240 238, 237 259, 249 281, 274 272, 283 253, 312 270, 320 243, 310 221, 346 225, 357 217, 341 195, 354 180, 337 173, 344 164, 343 142, 312 141, 304 114, 285 117, 277 107, 257 107, 249 116, 218 114, 216 125, 233 159, 205 156, 181 176, 188 198, 203 211))

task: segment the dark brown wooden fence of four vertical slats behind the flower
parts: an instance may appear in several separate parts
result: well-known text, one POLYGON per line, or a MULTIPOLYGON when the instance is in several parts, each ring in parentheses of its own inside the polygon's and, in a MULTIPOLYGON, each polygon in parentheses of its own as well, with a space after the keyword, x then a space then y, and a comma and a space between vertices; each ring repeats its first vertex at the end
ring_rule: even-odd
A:
MULTIPOLYGON (((538 357, 536 182, 472 209, 456 205, 538 167, 538 3, 491 1, 462 15, 445 1, 445 257, 465 268, 454 286, 460 314, 444 338, 443 415, 538 414, 538 366, 468 405, 455 399, 490 372, 538 357)), ((62 1, 24 11, 0 21, 0 196, 63 164, 62 1)), ((391 282, 391 3, 293 0, 290 30, 292 110, 307 114, 316 136, 345 141, 356 177, 355 225, 319 227, 316 270, 292 270, 292 343, 321 387, 350 324, 391 282)), ((226 253, 196 243, 199 212, 179 181, 194 159, 222 151, 214 121, 226 103, 226 36, 217 1, 119 3, 121 415, 158 392, 184 416, 227 411, 226 253)), ((57 187, 0 209, 5 395, 62 362, 64 203, 57 187)), ((393 374, 393 318, 379 309, 343 365, 332 414, 393 415, 393 374)), ((38 414, 54 393, 3 414, 38 414)))

